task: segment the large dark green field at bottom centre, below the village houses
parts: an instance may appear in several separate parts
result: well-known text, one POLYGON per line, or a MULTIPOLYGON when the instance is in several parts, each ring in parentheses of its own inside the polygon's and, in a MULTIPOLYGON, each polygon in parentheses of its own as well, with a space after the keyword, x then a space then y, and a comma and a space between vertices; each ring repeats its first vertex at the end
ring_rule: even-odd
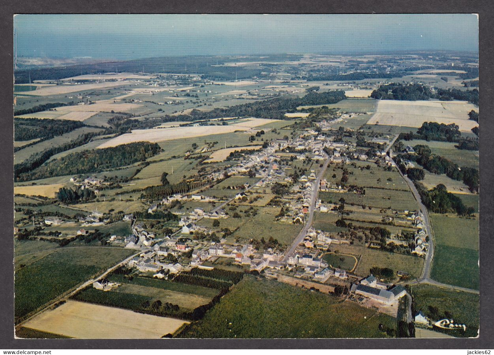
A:
POLYGON ((285 283, 246 276, 180 338, 382 338, 395 319, 285 283))

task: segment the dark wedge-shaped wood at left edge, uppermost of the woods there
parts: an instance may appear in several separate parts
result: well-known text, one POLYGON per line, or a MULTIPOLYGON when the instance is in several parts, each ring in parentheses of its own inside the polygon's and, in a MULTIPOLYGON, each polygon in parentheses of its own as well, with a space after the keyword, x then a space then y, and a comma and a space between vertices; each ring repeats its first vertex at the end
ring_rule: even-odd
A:
POLYGON ((84 126, 81 121, 68 119, 14 118, 14 141, 50 139, 84 126))

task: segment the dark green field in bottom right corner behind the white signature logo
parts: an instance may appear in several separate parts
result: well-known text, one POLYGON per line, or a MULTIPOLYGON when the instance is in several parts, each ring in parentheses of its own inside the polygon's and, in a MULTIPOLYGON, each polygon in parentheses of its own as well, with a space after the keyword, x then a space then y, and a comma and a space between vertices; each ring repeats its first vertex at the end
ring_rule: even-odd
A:
POLYGON ((466 325, 465 332, 462 329, 445 330, 446 334, 459 338, 474 338, 478 335, 479 295, 432 285, 419 285, 412 286, 412 297, 416 312, 422 311, 425 316, 432 316, 429 306, 438 308, 439 318, 432 318, 433 321, 448 318, 445 313, 449 312, 455 323, 466 325))

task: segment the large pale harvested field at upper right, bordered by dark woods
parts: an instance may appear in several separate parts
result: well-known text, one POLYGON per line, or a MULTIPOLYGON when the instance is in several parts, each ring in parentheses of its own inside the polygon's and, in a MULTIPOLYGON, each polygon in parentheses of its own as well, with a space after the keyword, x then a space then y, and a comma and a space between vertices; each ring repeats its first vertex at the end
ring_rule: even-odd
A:
POLYGON ((479 108, 466 101, 396 101, 379 100, 375 114, 367 124, 420 127, 423 122, 458 125, 459 130, 470 132, 478 123, 468 119, 471 110, 479 108))

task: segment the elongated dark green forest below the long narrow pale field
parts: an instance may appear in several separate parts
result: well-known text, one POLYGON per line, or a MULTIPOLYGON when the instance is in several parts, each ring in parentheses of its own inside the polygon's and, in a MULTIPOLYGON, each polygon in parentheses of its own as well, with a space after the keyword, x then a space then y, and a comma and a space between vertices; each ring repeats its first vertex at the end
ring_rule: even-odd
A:
POLYGON ((161 148, 156 143, 138 142, 71 153, 41 165, 29 173, 18 175, 17 181, 99 172, 143 161, 160 152, 161 148))

